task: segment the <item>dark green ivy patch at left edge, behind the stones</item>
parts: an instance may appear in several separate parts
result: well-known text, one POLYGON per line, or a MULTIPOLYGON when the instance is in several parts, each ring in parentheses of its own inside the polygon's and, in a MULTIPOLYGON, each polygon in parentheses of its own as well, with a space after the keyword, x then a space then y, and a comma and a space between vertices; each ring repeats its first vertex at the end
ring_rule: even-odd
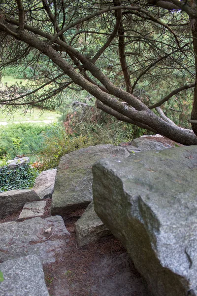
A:
POLYGON ((28 164, 15 169, 3 166, 0 168, 0 192, 32 188, 38 175, 39 172, 28 164))

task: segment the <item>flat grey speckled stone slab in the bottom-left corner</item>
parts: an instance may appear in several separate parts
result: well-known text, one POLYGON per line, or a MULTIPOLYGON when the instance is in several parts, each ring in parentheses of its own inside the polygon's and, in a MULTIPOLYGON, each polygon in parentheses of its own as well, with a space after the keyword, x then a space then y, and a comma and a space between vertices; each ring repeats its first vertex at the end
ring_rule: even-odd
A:
POLYGON ((0 296, 49 296, 42 264, 35 255, 7 260, 0 270, 4 277, 0 296))

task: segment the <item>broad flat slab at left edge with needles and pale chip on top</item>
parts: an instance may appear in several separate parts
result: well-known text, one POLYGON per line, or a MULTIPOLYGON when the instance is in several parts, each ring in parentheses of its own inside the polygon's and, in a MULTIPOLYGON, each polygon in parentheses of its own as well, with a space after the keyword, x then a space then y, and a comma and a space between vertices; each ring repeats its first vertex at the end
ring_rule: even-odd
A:
POLYGON ((69 232, 60 216, 1 223, 0 261, 36 255, 43 264, 55 262, 68 238, 69 232), (51 231, 45 232, 49 228, 51 231))

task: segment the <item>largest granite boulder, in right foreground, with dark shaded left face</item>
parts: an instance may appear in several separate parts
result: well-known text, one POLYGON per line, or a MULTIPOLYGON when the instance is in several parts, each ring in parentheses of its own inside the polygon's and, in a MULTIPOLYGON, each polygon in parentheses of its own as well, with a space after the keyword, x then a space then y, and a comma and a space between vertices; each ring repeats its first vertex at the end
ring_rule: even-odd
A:
POLYGON ((103 159, 95 211, 155 296, 197 296, 197 146, 103 159))

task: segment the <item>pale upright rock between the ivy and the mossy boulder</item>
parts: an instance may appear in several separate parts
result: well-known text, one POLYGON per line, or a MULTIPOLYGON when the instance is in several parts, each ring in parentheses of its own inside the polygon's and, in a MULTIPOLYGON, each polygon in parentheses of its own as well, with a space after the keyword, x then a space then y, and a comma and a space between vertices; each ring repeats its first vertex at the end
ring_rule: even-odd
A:
POLYGON ((55 176, 57 169, 41 172, 35 179, 33 190, 37 193, 40 199, 51 198, 54 191, 55 176))

